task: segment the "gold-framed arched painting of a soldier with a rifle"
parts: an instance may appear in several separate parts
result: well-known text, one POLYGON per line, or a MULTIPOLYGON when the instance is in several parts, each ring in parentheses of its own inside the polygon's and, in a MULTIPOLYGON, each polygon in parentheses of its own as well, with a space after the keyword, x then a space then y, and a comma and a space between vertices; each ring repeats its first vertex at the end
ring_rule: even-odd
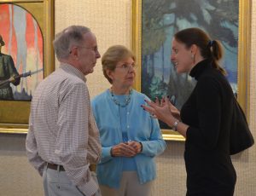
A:
POLYGON ((0 36, 0 132, 26 133, 33 92, 55 68, 54 0, 2 0, 0 36))

